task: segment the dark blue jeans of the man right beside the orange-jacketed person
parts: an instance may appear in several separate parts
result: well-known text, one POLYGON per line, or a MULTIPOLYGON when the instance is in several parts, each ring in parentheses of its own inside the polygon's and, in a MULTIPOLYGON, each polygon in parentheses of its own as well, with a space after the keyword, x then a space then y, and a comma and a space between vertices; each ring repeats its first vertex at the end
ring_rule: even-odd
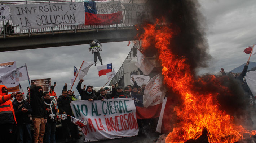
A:
POLYGON ((27 135, 26 143, 32 143, 30 124, 17 125, 17 143, 23 143, 23 132, 27 135))

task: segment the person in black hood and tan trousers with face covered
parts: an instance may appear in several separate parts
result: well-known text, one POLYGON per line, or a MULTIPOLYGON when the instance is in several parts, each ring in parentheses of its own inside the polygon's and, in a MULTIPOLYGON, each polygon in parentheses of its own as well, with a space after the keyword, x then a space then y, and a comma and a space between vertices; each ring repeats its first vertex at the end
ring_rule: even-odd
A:
POLYGON ((47 111, 43 100, 43 89, 36 84, 30 89, 30 106, 32 108, 32 123, 34 128, 34 143, 43 143, 47 111))

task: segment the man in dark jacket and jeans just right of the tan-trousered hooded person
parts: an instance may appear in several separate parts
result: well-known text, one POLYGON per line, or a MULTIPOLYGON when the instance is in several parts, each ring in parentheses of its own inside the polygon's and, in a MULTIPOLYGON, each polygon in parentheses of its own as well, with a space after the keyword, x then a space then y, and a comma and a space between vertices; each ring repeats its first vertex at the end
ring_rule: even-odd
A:
POLYGON ((48 91, 43 93, 44 103, 47 110, 47 123, 45 125, 45 143, 55 143, 55 130, 56 130, 56 119, 55 115, 57 112, 56 106, 50 99, 48 91))

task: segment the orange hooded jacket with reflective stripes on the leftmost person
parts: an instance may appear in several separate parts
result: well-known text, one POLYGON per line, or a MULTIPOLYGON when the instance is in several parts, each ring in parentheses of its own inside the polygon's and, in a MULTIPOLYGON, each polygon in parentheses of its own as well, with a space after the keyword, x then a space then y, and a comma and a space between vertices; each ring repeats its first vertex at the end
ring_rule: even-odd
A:
POLYGON ((4 95, 2 92, 3 87, 7 89, 6 86, 0 85, 0 125, 8 123, 17 124, 13 104, 10 100, 12 96, 10 94, 4 95))

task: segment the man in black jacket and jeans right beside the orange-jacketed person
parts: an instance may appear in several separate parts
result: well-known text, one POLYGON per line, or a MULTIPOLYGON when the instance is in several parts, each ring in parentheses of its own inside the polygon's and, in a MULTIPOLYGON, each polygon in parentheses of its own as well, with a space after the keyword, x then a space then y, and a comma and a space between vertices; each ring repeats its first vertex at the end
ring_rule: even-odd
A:
POLYGON ((32 114, 32 109, 29 103, 23 100, 21 92, 17 93, 16 99, 13 101, 13 108, 17 121, 17 143, 23 143, 24 132, 26 134, 27 143, 32 143, 29 116, 32 114))

